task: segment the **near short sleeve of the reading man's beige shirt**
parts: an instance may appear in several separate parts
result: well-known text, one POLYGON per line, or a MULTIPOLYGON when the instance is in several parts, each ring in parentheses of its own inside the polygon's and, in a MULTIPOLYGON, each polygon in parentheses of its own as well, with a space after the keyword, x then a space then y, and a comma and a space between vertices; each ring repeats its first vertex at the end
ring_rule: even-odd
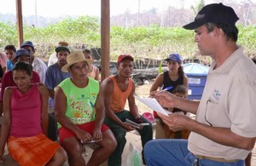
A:
POLYGON ((231 130, 236 135, 256 136, 256 88, 252 81, 244 80, 230 93, 231 130))

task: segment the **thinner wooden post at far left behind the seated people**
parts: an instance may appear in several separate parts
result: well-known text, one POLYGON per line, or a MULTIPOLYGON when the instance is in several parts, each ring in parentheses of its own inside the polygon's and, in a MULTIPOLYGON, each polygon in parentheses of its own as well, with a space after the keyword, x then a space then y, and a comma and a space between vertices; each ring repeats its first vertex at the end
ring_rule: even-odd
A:
POLYGON ((23 42, 23 21, 22 21, 22 4, 21 0, 16 0, 16 17, 17 17, 17 37, 18 37, 18 48, 20 48, 23 42))

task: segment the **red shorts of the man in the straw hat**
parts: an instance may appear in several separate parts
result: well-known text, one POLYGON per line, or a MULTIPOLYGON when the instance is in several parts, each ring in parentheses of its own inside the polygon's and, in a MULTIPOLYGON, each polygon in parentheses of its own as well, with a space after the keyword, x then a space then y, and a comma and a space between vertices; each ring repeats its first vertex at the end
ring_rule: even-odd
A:
MULTIPOLYGON (((88 132, 90 135, 93 135, 93 130, 95 129, 95 121, 92 121, 90 123, 84 123, 84 124, 77 124, 77 127, 79 127, 79 129, 82 129, 86 132, 88 132)), ((108 126, 105 124, 102 124, 102 133, 106 130, 108 130, 108 126)), ((67 139, 69 137, 73 137, 76 136, 71 130, 66 129, 61 127, 59 129, 59 137, 60 137, 60 142, 62 142, 62 140, 67 139)))

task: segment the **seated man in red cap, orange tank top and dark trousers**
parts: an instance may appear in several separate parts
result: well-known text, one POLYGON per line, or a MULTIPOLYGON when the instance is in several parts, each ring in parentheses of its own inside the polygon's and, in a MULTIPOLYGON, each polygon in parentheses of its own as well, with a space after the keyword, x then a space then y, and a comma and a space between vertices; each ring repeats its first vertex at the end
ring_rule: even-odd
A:
MULTIPOLYGON (((131 79, 133 71, 133 58, 130 54, 120 54, 117 61, 118 74, 106 78, 101 88, 103 91, 104 106, 106 111, 105 124, 112 130, 118 146, 108 159, 109 166, 120 166, 122 153, 125 147, 126 131, 136 129, 130 123, 125 123, 128 118, 136 123, 148 123, 142 129, 137 129, 142 139, 142 146, 153 139, 152 125, 147 119, 140 116, 135 103, 135 83, 131 79), (128 100, 130 112, 125 110, 125 102, 128 100)), ((144 162, 144 161, 143 161, 144 162)))

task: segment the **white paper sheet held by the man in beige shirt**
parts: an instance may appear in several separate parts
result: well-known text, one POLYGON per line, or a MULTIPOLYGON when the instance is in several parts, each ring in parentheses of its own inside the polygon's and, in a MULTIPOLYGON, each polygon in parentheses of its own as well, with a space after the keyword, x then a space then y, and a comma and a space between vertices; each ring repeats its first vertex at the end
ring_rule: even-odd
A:
POLYGON ((143 104, 145 104, 146 106, 152 108, 155 112, 160 112, 166 116, 168 116, 168 114, 172 114, 172 112, 169 112, 166 109, 164 109, 162 106, 160 106, 159 102, 154 98, 142 98, 142 97, 138 97, 137 95, 134 95, 134 97, 135 99, 143 102, 143 104))

